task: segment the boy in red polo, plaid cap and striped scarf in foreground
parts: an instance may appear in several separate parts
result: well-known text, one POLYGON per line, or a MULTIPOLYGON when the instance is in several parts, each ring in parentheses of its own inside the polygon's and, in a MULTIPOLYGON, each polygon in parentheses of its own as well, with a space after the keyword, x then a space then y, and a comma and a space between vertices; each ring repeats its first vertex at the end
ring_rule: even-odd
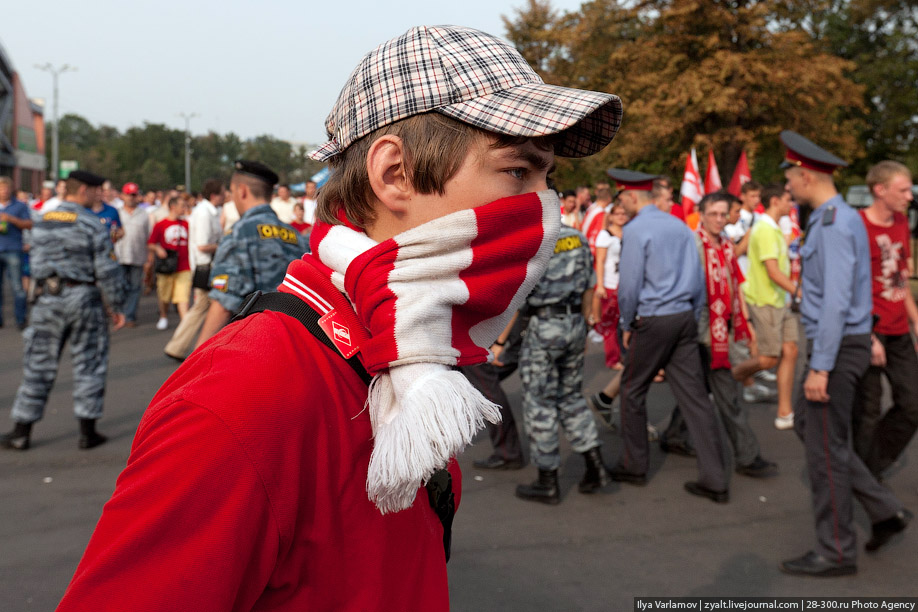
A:
POLYGON ((423 484, 450 465, 458 493, 450 458, 499 414, 452 366, 488 359, 547 266, 554 155, 620 122, 618 97, 545 85, 475 30, 368 54, 312 153, 334 170, 312 253, 280 287, 328 344, 275 311, 195 350, 59 610, 447 609, 445 489, 423 484))

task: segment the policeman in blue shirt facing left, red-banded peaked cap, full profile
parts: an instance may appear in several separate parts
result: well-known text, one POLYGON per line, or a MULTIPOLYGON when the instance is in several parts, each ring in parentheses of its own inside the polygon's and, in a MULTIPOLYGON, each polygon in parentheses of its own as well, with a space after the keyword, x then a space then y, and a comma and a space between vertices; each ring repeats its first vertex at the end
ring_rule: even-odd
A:
POLYGON ((872 522, 866 549, 875 551, 904 530, 911 513, 880 485, 851 446, 851 409, 870 364, 870 248, 860 216, 835 189, 832 173, 848 164, 803 136, 784 131, 787 189, 812 213, 803 259, 800 314, 807 338, 807 374, 794 409, 803 440, 816 547, 781 564, 805 576, 857 571, 852 497, 872 522))

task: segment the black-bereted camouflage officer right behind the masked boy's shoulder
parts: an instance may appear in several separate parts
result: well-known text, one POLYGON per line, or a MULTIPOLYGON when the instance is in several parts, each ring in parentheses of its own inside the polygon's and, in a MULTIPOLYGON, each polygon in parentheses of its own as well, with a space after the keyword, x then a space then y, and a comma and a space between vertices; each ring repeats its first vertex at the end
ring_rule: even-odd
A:
POLYGON ((268 202, 277 184, 273 170, 257 161, 237 160, 230 180, 239 211, 233 231, 217 246, 210 269, 210 309, 198 336, 201 346, 242 307, 253 291, 274 291, 287 265, 309 250, 298 231, 281 223, 268 202))

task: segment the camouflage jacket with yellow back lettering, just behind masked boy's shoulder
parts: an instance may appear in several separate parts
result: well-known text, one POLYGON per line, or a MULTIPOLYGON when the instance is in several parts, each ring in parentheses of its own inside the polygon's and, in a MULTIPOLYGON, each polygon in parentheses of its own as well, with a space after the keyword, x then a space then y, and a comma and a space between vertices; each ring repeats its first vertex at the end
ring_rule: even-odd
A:
POLYGON ((306 239, 281 223, 269 204, 250 208, 217 246, 210 271, 210 299, 236 312, 253 291, 277 289, 287 265, 308 251, 306 239))

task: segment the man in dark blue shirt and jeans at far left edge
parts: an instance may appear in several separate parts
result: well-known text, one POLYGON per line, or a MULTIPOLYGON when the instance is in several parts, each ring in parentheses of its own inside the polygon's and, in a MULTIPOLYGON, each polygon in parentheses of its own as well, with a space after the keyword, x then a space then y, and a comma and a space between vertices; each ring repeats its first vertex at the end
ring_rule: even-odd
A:
MULTIPOLYGON (((0 307, 3 305, 3 277, 13 292, 13 311, 19 329, 26 326, 26 294, 22 288, 22 230, 32 228, 32 216, 24 202, 13 198, 13 183, 0 176, 0 307)), ((3 314, 0 308, 0 327, 3 314)))

